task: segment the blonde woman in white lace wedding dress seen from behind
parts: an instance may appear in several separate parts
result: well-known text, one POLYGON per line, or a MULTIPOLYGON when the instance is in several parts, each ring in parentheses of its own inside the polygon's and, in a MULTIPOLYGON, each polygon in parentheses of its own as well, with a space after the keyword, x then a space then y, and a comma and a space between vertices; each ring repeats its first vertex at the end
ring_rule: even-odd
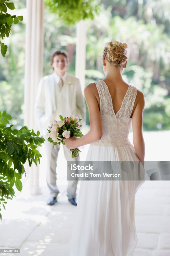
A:
MULTIPOLYGON (((103 49, 106 77, 84 89, 90 131, 83 137, 65 140, 69 149, 90 144, 86 161, 144 161, 144 95, 122 78, 127 64, 126 48, 126 43, 106 43, 103 49), (134 147, 128 140, 131 122, 134 147)), ((133 255, 137 244, 135 194, 142 183, 81 182, 70 256, 133 255)))

